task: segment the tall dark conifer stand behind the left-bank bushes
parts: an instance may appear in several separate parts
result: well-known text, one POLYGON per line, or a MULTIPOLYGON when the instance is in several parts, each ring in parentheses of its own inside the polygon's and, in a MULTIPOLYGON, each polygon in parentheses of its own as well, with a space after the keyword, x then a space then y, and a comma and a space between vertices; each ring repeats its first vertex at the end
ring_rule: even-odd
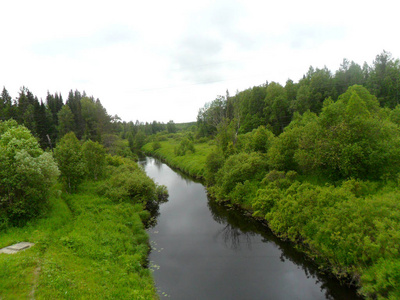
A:
POLYGON ((113 132, 115 117, 107 114, 99 99, 88 97, 85 92, 71 90, 65 103, 61 94, 48 92, 43 102, 26 87, 22 87, 18 97, 12 100, 3 87, 0 119, 14 119, 24 125, 46 149, 70 131, 79 139, 101 141, 103 135, 113 132))

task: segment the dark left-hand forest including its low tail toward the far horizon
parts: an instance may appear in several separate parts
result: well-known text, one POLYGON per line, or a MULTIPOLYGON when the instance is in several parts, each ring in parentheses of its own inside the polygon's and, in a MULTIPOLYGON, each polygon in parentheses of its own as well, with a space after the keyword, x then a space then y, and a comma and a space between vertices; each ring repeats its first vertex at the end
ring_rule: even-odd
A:
POLYGON ((101 142, 112 154, 124 156, 140 149, 147 135, 167 129, 175 131, 173 121, 167 124, 122 122, 117 115, 110 116, 99 99, 77 90, 71 90, 64 103, 60 93, 49 92, 45 102, 39 101, 26 87, 22 87, 18 97, 13 99, 3 87, 0 120, 9 119, 27 127, 43 149, 55 147, 66 133, 72 131, 80 140, 101 142), (124 147, 123 139, 129 141, 130 149, 124 147))

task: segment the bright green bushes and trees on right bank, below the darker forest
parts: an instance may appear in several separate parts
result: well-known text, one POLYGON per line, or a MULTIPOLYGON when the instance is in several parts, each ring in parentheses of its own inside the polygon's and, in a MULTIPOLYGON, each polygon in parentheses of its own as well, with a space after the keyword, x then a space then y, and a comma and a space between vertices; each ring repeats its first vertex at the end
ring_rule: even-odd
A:
MULTIPOLYGON (((209 191, 253 210, 277 235, 360 284, 365 295, 397 299, 400 127, 394 111, 354 85, 336 101, 327 98, 318 114, 296 113, 276 137, 263 127, 239 134, 230 148, 208 156, 209 191)), ((222 134, 217 129, 217 141, 222 134)))

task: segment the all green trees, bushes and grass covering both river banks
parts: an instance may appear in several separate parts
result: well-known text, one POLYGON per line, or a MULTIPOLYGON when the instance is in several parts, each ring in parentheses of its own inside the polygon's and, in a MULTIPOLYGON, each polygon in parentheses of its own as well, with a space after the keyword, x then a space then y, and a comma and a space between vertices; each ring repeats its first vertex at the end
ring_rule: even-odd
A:
POLYGON ((167 192, 138 167, 140 151, 202 178, 217 202, 264 220, 365 297, 400 298, 399 88, 386 51, 226 91, 187 124, 125 122, 85 92, 43 102, 4 87, 0 247, 28 237, 38 247, 23 268, 0 255, 0 298, 31 287, 38 298, 102 286, 110 298, 155 295, 144 224, 167 192))

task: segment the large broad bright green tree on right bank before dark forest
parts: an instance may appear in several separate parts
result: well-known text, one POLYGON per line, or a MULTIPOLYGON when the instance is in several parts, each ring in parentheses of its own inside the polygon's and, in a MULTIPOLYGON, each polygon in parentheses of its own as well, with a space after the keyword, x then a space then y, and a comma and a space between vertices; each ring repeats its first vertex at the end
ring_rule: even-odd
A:
POLYGON ((334 179, 394 176, 400 167, 400 130, 381 111, 376 97, 357 85, 337 102, 327 101, 317 123, 299 134, 297 163, 334 179))

